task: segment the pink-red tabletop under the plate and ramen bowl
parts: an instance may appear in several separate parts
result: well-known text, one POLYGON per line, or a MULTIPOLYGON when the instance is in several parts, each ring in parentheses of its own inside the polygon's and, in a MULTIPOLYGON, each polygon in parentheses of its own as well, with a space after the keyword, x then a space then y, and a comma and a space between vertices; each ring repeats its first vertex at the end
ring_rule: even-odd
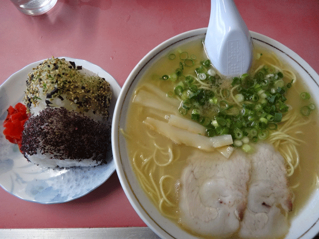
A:
MULTIPOLYGON (((235 0, 248 29, 286 45, 319 73, 318 0, 235 0)), ((32 62, 51 56, 84 59, 123 86, 154 47, 179 33, 208 26, 210 0, 59 0, 42 16, 0 1, 2 84, 32 62)), ((116 172, 71 202, 41 205, 0 188, 0 228, 144 227, 116 172)))

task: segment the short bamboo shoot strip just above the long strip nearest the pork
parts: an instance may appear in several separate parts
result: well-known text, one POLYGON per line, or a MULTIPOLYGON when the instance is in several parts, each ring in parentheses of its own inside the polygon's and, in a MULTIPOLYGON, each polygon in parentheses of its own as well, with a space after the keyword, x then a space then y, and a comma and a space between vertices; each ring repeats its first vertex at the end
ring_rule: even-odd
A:
POLYGON ((203 125, 200 125, 199 123, 194 122, 190 119, 182 118, 175 115, 170 115, 168 124, 201 135, 205 135, 206 133, 206 128, 203 125))

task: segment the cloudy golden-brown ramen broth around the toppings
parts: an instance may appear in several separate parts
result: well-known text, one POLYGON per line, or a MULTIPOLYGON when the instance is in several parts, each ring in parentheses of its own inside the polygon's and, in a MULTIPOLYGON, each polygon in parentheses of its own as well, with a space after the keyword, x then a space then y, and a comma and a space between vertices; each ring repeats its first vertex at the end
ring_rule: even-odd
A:
MULTIPOLYGON (((145 91, 153 99, 161 99, 159 94, 164 97, 167 97, 167 93, 171 94, 176 83, 171 79, 162 80, 161 77, 173 73, 175 69, 180 68, 179 62, 181 60, 178 57, 181 52, 187 52, 188 58, 192 59, 195 65, 200 64, 199 61, 207 59, 202 39, 180 45, 177 49, 167 49, 162 53, 162 57, 155 63, 152 63, 152 66, 143 74, 142 79, 135 88, 135 92, 145 91), (175 55, 175 59, 170 59, 173 58, 171 54, 175 55)), ((261 64, 264 64, 265 60, 274 65, 282 64, 282 68, 293 71, 287 64, 273 58, 272 54, 272 52, 267 52, 262 47, 254 45, 254 60, 251 71, 254 72, 261 64), (262 53, 261 56, 260 53, 262 53)), ((183 75, 193 75, 193 69, 193 67, 184 67, 183 75)), ((300 93, 310 92, 310 89, 298 75, 296 77, 297 81, 288 90, 286 104, 292 106, 293 109, 297 109, 296 114, 300 114, 298 109, 302 106, 309 103, 317 105, 317 102, 313 97, 308 102, 301 100, 300 93)), ((223 79, 222 81, 225 83, 221 82, 221 84, 227 84, 231 79, 223 79)), ((290 79, 285 78, 285 72, 284 81, 286 84, 290 81, 290 79)), ((133 95, 133 103, 131 101, 129 105, 127 123, 123 130, 132 168, 144 192, 158 210, 160 210, 160 213, 171 219, 172 222, 179 224, 178 193, 181 186, 181 173, 188 163, 187 157, 199 151, 199 149, 185 146, 184 144, 176 144, 144 123, 147 117, 167 120, 167 115, 171 113, 178 115, 178 106, 176 109, 169 109, 167 111, 155 110, 135 103, 134 97, 133 95)), ((165 101, 159 101, 160 105, 167 105, 165 101)), ((289 220, 298 214, 310 195, 315 191, 315 188, 318 187, 318 112, 314 110, 307 119, 306 117, 302 118, 310 120, 309 123, 295 128, 296 132, 303 132, 297 133, 297 135, 299 139, 304 140, 306 143, 300 143, 300 146, 297 146, 300 155, 299 166, 295 169, 293 175, 288 177, 289 186, 292 187, 294 194, 293 210, 288 214, 289 220)), ((265 142, 267 142, 267 139, 265 142)), ((187 228, 184 230, 196 235, 187 228)), ((231 238, 236 237, 238 236, 231 236, 231 238)))

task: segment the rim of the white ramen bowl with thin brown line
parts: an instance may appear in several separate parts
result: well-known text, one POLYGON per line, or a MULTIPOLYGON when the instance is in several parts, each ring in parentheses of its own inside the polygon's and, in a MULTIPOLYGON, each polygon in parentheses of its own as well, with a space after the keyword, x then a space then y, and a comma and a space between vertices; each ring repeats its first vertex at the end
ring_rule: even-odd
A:
MULTIPOLYGON (((120 92, 119 98, 117 100, 115 110, 114 110, 114 116, 113 116, 113 122, 112 122, 112 150, 113 150, 113 156, 116 164, 116 170, 117 174, 119 176, 120 183, 122 185, 122 188, 128 197, 131 205, 137 212, 137 214, 141 217, 141 219, 147 224, 148 227, 150 227, 158 236, 161 238, 176 238, 174 235, 181 235, 184 230, 178 230, 178 233, 173 233, 170 231, 170 229, 165 230, 162 228, 162 225, 167 226, 166 222, 161 222, 161 225, 157 222, 156 219, 152 218, 150 215, 150 212, 143 206, 143 203, 139 200, 139 196, 136 195, 136 192, 134 192, 134 189, 132 187, 132 184, 129 182, 129 175, 126 172, 126 168, 122 162, 120 147, 123 146, 119 141, 119 135, 120 135, 120 121, 123 119, 123 114, 126 113, 126 109, 124 107, 124 102, 126 99, 131 98, 131 94, 129 94, 129 90, 131 89, 132 85, 135 83, 135 80, 140 77, 141 73, 143 72, 144 68, 152 61, 154 60, 160 53, 164 52, 169 47, 181 42, 185 41, 191 38, 195 37, 203 37, 206 35, 207 27, 205 28, 198 28, 190 31, 183 32, 181 34, 178 34, 176 36, 173 36, 166 41, 160 43, 157 47, 152 49, 147 55, 145 55, 141 61, 135 66, 135 68, 132 70, 130 75, 128 76, 127 80, 125 81, 122 90, 120 92)), ((266 44, 269 47, 273 47, 274 49, 280 51, 284 55, 286 55, 291 61, 293 61, 295 64, 297 64, 299 67, 303 69, 303 71, 312 79, 312 82, 317 88, 319 89, 319 75, 315 72, 315 70, 305 61, 303 60, 297 53, 286 47, 285 45, 281 44, 280 42, 267 37, 265 35, 262 35, 260 33, 256 33, 253 31, 249 31, 252 37, 253 42, 258 41, 261 44, 266 44)), ((143 74, 142 74, 143 75, 143 74)), ((132 90, 132 89, 131 89, 132 90)), ((125 118, 125 117, 124 117, 125 118)), ((126 120, 124 120, 126 122, 126 120)), ((130 163, 129 163, 130 164, 130 163)), ((131 166, 131 164, 130 164, 131 166)), ((128 170, 132 170, 128 169, 128 170)), ((135 176, 134 176, 135 177, 135 176)), ((315 192, 314 192, 315 194, 315 192)), ((145 195, 146 196, 146 195, 145 195)), ((311 200, 311 198, 309 199, 311 200)), ((306 238, 313 238, 319 231, 319 215, 317 221, 311 225, 305 232, 298 237, 298 239, 306 239, 306 238)), ((174 224, 174 223, 171 223, 174 224)), ((178 226, 175 226, 178 228, 178 226)), ((184 236, 194 238, 190 234, 184 234, 184 236)))

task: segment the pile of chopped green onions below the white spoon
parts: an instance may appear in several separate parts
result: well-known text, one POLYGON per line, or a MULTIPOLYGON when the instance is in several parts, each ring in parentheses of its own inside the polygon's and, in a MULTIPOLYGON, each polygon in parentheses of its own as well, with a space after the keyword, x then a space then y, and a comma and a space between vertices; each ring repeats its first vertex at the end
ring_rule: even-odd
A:
MULTIPOLYGON (((234 77, 233 89, 229 89, 223 87, 222 78, 210 60, 197 62, 196 57, 187 52, 178 50, 174 53, 174 57, 179 55, 181 60, 177 69, 163 77, 173 81, 173 87, 166 95, 177 95, 182 100, 178 108, 180 114, 205 126, 207 136, 231 134, 234 146, 251 151, 250 143, 267 138, 270 130, 277 129, 288 112, 286 91, 293 81, 285 85, 284 74, 274 67, 264 66, 254 75, 245 73, 234 77), (196 79, 184 75, 192 74, 192 70, 196 79)), ((306 98, 310 97, 309 93, 304 94, 306 98)), ((315 108, 314 104, 308 105, 309 111, 315 108)))

